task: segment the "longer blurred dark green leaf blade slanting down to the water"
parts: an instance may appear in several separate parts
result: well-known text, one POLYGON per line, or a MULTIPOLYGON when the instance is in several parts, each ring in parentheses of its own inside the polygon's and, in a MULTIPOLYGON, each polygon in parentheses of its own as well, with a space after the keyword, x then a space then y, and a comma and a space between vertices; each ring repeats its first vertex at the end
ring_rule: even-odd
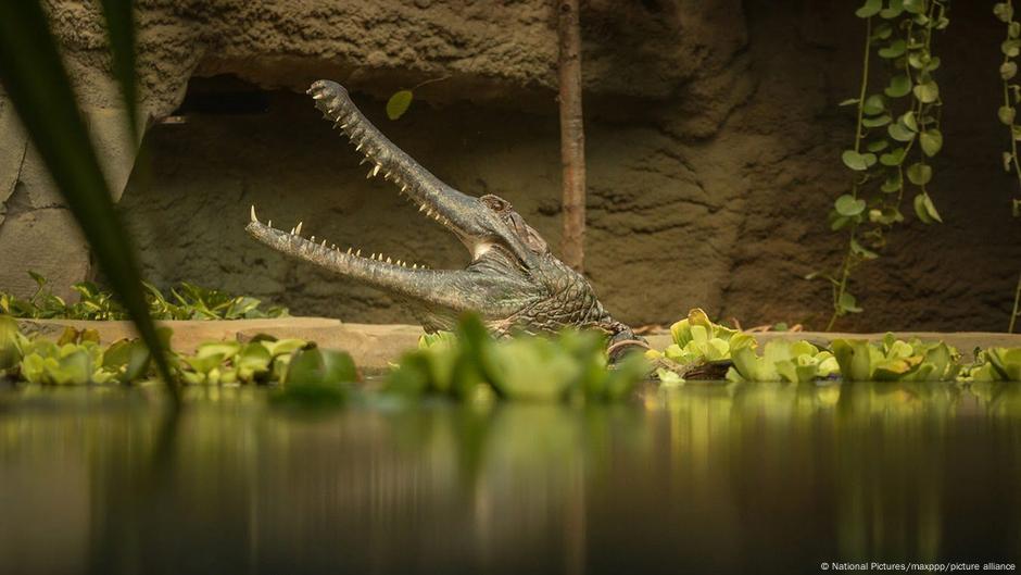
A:
POLYGON ((0 78, 36 150, 92 247, 114 292, 179 397, 149 316, 133 243, 111 200, 67 73, 35 0, 0 2, 0 78))

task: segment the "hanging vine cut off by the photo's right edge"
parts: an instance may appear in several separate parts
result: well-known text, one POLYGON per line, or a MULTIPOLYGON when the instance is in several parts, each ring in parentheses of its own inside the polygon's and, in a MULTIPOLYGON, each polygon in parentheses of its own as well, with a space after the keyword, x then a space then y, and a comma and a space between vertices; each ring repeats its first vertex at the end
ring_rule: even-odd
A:
MULTIPOLYGON (((1021 139, 1021 126, 1017 120, 1017 105, 1021 103, 1021 86, 1011 80, 1018 75, 1018 63, 1014 59, 1021 53, 1021 22, 1013 17, 1013 2, 998 2, 993 7, 993 14, 1007 25, 1007 37, 999 49, 1004 53, 1004 62, 999 65, 999 77, 1004 80, 1004 103, 999 107, 999 121, 1010 128, 1010 150, 1004 152, 1004 170, 1013 172, 1018 177, 1018 188, 1021 189, 1021 164, 1018 160, 1018 140, 1021 139)), ((1021 217, 1021 198, 1011 201, 1013 216, 1021 217)), ((1018 277, 1018 287, 1013 295, 1013 309, 1010 312, 1008 333, 1013 333, 1018 320, 1019 303, 1021 303, 1021 275, 1018 277)))

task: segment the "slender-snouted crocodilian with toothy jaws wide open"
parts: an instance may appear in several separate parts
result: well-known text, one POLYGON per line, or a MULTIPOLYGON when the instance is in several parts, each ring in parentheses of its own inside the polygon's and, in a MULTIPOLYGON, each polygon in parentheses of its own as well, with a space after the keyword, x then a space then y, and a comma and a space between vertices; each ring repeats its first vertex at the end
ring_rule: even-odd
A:
POLYGON ((288 255, 381 288, 407 301, 427 332, 451 329, 467 311, 478 313, 497 335, 553 332, 566 326, 597 328, 612 345, 634 340, 615 321, 589 282, 550 251, 510 203, 496 196, 476 198, 448 186, 394 146, 336 82, 308 89, 316 108, 335 123, 369 162, 368 177, 381 174, 418 211, 457 236, 471 255, 464 270, 431 270, 382 254, 343 251, 326 240, 302 237, 302 224, 285 232, 263 224, 252 207, 247 230, 288 255), (366 257, 367 255, 367 257, 366 257))

